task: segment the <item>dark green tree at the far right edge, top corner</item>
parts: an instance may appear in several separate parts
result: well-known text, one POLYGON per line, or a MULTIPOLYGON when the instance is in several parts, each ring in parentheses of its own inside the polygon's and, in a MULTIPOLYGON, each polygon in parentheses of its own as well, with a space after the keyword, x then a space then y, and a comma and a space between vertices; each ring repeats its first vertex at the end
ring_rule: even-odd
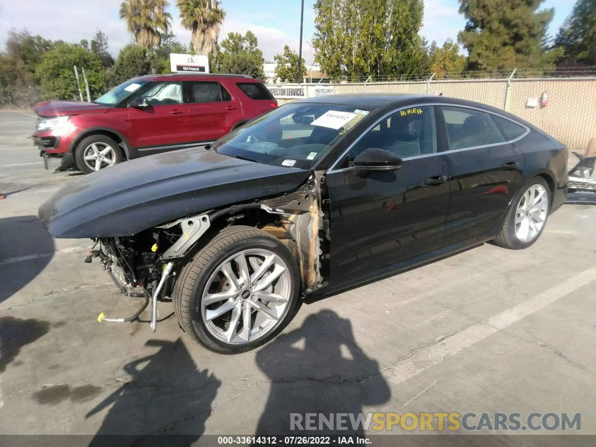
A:
POLYGON ((554 42, 566 65, 596 65, 596 0, 578 0, 554 42))

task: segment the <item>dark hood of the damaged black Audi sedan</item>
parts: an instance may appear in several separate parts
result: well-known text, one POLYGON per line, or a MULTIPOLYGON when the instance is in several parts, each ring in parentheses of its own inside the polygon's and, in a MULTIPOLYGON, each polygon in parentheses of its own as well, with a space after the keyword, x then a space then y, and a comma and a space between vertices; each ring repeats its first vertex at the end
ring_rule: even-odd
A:
POLYGON ((188 148, 91 173, 58 191, 38 214, 56 238, 129 236, 194 213, 296 190, 310 173, 188 148))

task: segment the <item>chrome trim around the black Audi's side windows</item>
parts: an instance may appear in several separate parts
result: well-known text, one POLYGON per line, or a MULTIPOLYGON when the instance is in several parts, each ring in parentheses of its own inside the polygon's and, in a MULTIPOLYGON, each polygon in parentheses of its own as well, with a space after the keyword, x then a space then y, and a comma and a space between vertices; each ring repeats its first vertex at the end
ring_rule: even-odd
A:
MULTIPOLYGON (((396 112, 398 112, 400 110, 404 110, 406 108, 427 107, 429 105, 433 105, 433 106, 434 105, 439 105, 439 106, 445 106, 445 107, 470 108, 471 110, 482 111, 484 113, 492 114, 492 115, 501 117, 503 119, 509 120, 512 123, 517 124, 518 126, 526 129, 526 132, 524 132, 522 135, 518 136, 517 138, 510 139, 508 141, 503 141, 503 142, 500 142, 500 143, 483 144, 483 145, 480 145, 480 146, 465 147, 465 148, 461 148, 461 149, 449 149, 449 150, 442 151, 442 152, 435 152, 433 154, 421 154, 421 155, 414 155, 414 156, 411 156, 411 157, 403 157, 403 159, 402 159, 403 161, 406 161, 406 160, 415 160, 415 159, 423 159, 423 158, 426 158, 426 157, 433 157, 433 156, 437 156, 437 155, 449 154, 449 153, 455 153, 455 152, 470 151, 470 150, 473 150, 473 149, 482 149, 482 148, 485 148, 485 147, 500 146, 502 144, 511 144, 511 143, 516 142, 516 141, 519 141, 520 139, 524 138, 524 136, 526 136, 527 134, 530 133, 530 128, 527 127, 527 126, 524 126, 522 123, 519 123, 516 120, 513 120, 513 119, 511 119, 511 118, 509 118, 507 116, 503 116, 503 115, 501 115, 499 113, 495 113, 493 111, 488 111, 488 110, 485 110, 485 109, 480 108, 480 107, 473 107, 471 105, 448 104, 448 103, 421 103, 421 104, 411 104, 411 105, 406 105, 405 107, 399 107, 399 108, 396 108, 396 109, 394 109, 394 110, 392 110, 390 112, 387 112, 386 114, 384 114, 383 116, 381 116, 377 121, 375 121, 372 125, 368 126, 367 130, 364 131, 364 132, 362 132, 362 134, 360 134, 358 136, 358 138, 356 138, 352 142, 352 144, 350 144, 349 147, 347 147, 347 149, 343 151, 342 155, 340 155, 337 158, 337 160, 331 165, 331 167, 329 169, 327 169, 327 172, 325 172, 325 174, 331 174, 331 173, 334 173, 334 172, 344 172, 344 171, 347 171, 347 170, 354 169, 353 167, 343 167, 342 169, 334 169, 334 168, 335 168, 336 164, 339 163, 340 161, 342 161, 343 157, 345 157, 346 154, 349 153, 349 151, 352 149, 352 147, 354 147, 354 145, 356 143, 358 143, 358 141, 360 141, 360 139, 362 138, 362 136, 364 136, 365 134, 367 134, 368 132, 370 132, 372 129, 374 129, 375 127, 377 127, 381 123, 381 121, 383 121, 384 119, 387 119, 390 115, 392 115, 392 114, 394 114, 394 113, 396 113, 396 112)), ((435 129, 434 129, 434 132, 436 134, 436 117, 435 117, 435 129)), ((499 132, 501 132, 501 129, 499 129, 499 132)))

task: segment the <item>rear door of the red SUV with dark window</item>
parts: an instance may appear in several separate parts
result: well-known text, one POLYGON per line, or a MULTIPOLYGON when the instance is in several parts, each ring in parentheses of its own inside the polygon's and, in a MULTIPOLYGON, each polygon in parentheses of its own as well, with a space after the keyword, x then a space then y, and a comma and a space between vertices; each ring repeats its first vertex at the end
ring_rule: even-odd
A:
POLYGON ((242 119, 238 98, 217 81, 185 81, 190 141, 209 143, 228 134, 242 119))

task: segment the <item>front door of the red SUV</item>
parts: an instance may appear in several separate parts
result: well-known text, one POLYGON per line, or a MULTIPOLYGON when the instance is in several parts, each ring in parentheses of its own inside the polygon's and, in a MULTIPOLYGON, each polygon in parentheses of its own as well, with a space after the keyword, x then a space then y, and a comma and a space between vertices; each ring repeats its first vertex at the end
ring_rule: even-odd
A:
POLYGON ((181 82, 155 82, 138 97, 145 98, 148 107, 127 109, 126 138, 134 150, 153 153, 188 142, 188 105, 182 98, 181 82))

